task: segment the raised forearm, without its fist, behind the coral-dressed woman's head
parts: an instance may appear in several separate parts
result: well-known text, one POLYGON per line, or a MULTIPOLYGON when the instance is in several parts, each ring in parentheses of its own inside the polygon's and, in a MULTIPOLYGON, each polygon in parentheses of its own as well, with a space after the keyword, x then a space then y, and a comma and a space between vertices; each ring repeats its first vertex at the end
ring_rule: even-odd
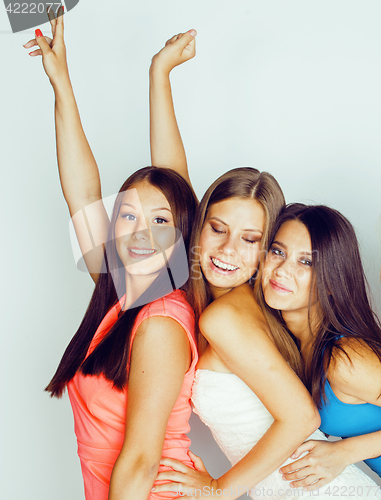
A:
POLYGON ((169 73, 157 68, 154 63, 150 69, 150 144, 152 165, 169 167, 189 181, 169 73))

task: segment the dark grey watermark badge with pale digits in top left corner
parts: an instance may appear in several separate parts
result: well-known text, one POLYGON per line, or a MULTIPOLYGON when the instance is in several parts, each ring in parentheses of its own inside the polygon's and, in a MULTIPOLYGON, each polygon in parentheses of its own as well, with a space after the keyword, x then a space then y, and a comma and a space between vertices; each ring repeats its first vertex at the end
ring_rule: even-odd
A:
POLYGON ((66 13, 74 9, 78 3, 79 0, 60 0, 59 2, 42 2, 39 0, 35 2, 13 2, 4 0, 11 32, 2 31, 1 33, 19 33, 20 31, 36 28, 48 22, 47 11, 49 9, 57 16, 60 7, 64 7, 66 13))

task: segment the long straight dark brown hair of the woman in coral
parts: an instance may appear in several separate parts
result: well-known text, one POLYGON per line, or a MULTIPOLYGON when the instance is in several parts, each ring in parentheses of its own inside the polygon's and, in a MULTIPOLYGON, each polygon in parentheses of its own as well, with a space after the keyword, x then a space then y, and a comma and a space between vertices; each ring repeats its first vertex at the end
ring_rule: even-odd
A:
MULTIPOLYGON (((109 234, 106 243, 103 271, 95 286, 89 306, 76 334, 69 343, 61 359, 55 375, 46 387, 51 396, 60 397, 67 383, 77 371, 84 375, 103 374, 114 386, 123 390, 127 383, 127 361, 130 352, 130 336, 135 319, 143 305, 134 304, 125 311, 113 325, 94 351, 86 358, 86 354, 94 334, 107 311, 116 304, 118 297, 125 293, 125 270, 119 259, 115 245, 115 222, 122 204, 124 192, 138 183, 145 181, 159 189, 169 202, 174 225, 181 231, 185 248, 188 251, 192 222, 197 207, 197 199, 188 183, 176 172, 160 167, 145 167, 131 175, 120 188, 115 201, 109 234)), ((177 258, 173 252, 168 262, 168 273, 173 261, 177 258), (174 254, 174 255, 173 255, 174 254)), ((187 266, 185 273, 188 273, 187 266)), ((168 274, 164 268, 150 287, 144 292, 139 304, 149 304, 173 291, 168 289, 168 274)))

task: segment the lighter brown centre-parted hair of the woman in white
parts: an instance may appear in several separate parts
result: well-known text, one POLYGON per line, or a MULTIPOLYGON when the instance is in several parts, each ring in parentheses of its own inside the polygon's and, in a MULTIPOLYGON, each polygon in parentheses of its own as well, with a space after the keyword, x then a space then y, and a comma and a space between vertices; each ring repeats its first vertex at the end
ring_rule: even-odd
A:
POLYGON ((265 229, 262 237, 264 247, 267 247, 269 234, 285 204, 283 192, 274 177, 251 167, 229 170, 219 177, 204 194, 193 225, 188 287, 188 301, 195 312, 200 353, 206 349, 208 342, 199 330, 198 321, 202 312, 212 302, 210 288, 202 273, 198 255, 200 235, 210 207, 229 198, 250 198, 262 205, 265 211, 265 229))

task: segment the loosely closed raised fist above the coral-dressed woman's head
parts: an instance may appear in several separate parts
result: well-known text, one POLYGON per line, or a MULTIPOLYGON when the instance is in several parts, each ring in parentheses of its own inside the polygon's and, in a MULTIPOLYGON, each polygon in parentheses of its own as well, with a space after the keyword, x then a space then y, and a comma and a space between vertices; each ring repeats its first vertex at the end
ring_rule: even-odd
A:
POLYGON ((169 74, 173 68, 196 55, 196 30, 179 33, 167 40, 165 46, 152 58, 151 71, 169 74))

